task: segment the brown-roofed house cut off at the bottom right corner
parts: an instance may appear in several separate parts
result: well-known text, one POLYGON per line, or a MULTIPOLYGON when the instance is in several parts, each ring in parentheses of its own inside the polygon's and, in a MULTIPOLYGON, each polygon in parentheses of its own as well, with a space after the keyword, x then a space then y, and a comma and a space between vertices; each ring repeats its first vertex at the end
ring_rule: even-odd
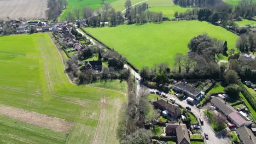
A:
POLYGON ((255 144, 256 138, 251 129, 243 126, 236 130, 237 136, 243 144, 255 144))

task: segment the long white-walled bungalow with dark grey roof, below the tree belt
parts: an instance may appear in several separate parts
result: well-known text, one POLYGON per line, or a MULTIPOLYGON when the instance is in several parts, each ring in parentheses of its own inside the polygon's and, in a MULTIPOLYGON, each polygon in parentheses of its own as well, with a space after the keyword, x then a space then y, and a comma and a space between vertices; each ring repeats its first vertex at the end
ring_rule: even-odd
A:
POLYGON ((205 93, 202 92, 200 89, 189 86, 187 83, 184 83, 182 81, 177 82, 173 86, 173 89, 174 91, 185 93, 186 95, 188 95, 188 97, 193 98, 197 101, 200 101, 203 95, 205 95, 205 93))

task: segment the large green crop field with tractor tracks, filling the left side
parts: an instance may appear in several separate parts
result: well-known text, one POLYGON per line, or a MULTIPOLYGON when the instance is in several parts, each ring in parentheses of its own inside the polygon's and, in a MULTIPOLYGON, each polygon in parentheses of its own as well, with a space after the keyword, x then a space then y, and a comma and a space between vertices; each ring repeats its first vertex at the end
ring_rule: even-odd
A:
POLYGON ((0 143, 118 143, 123 94, 69 83, 47 34, 0 37, 0 44, 0 143), (20 111, 32 120, 5 110, 20 111), (41 114, 56 123, 65 119, 64 130, 34 124, 41 114))

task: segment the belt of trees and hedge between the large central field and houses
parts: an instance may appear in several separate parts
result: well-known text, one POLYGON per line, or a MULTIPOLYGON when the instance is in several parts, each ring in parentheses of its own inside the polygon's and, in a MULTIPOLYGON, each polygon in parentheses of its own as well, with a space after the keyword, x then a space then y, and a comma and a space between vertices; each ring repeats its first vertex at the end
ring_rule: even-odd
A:
POLYGON ((156 87, 167 90, 168 83, 173 79, 223 78, 226 67, 220 67, 215 61, 215 56, 220 53, 227 55, 226 41, 213 39, 203 34, 191 39, 188 47, 190 50, 188 55, 176 54, 172 70, 167 64, 155 65, 153 68, 143 67, 139 73, 146 84, 152 86, 153 83, 157 83, 156 87))

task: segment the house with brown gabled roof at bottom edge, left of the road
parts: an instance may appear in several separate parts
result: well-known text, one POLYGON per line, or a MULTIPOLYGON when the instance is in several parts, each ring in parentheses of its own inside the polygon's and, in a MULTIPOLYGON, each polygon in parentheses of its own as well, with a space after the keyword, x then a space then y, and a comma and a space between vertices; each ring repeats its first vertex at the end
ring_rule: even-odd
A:
POLYGON ((177 144, 189 144, 189 134, 187 126, 184 123, 166 123, 166 135, 167 136, 176 136, 177 144))

